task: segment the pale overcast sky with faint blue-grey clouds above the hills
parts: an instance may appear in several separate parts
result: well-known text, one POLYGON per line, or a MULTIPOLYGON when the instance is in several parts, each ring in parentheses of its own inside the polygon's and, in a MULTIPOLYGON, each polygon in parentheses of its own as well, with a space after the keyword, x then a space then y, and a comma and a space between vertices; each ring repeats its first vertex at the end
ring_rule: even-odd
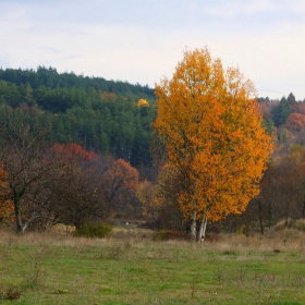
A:
POLYGON ((305 98, 305 0, 0 0, 0 41, 3 69, 150 87, 206 46, 258 96, 305 98))

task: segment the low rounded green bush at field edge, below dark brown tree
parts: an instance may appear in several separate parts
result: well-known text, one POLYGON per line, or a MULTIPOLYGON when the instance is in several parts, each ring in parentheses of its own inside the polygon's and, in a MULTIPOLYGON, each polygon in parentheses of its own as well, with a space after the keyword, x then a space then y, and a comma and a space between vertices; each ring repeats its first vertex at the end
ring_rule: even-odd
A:
POLYGON ((112 227, 107 222, 86 222, 76 229, 74 236, 105 239, 110 236, 112 227))

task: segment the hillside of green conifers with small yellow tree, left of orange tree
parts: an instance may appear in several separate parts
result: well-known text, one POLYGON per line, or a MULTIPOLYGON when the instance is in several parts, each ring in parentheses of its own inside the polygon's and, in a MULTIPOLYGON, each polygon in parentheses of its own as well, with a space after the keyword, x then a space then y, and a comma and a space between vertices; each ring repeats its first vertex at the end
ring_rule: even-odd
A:
POLYGON ((133 166, 149 164, 150 123, 156 115, 154 89, 56 69, 0 70, 0 111, 35 107, 52 125, 51 143, 83 148, 133 166))

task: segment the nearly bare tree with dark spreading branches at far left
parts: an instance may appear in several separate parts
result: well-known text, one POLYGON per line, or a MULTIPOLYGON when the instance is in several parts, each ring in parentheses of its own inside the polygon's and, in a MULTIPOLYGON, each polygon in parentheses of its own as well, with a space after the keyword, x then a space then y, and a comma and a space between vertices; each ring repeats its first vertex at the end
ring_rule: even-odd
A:
POLYGON ((36 206, 27 213, 26 205, 40 180, 46 179, 53 163, 44 162, 46 137, 51 124, 42 111, 37 108, 1 108, 0 111, 0 161, 7 172, 10 199, 13 203, 15 225, 23 232, 30 222, 44 216, 36 206))

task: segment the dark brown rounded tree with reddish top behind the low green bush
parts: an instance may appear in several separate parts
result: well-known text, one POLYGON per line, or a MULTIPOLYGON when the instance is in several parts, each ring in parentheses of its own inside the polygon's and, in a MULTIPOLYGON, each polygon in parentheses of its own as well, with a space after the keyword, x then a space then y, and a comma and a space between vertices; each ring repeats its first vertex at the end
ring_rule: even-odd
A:
POLYGON ((54 144, 46 154, 56 156, 57 167, 49 172, 47 187, 40 192, 39 202, 52 223, 80 228, 85 221, 105 219, 100 182, 96 176, 97 156, 76 144, 54 144))

